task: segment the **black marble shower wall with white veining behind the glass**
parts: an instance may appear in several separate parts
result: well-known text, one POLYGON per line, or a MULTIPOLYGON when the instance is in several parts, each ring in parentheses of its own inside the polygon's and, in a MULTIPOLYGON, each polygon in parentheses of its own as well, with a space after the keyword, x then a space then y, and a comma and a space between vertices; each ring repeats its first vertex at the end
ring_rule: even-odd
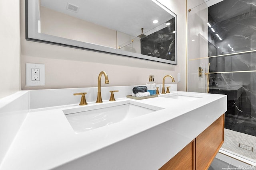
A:
POLYGON ((208 23, 209 93, 228 95, 225 128, 256 136, 256 0, 210 6, 208 23))

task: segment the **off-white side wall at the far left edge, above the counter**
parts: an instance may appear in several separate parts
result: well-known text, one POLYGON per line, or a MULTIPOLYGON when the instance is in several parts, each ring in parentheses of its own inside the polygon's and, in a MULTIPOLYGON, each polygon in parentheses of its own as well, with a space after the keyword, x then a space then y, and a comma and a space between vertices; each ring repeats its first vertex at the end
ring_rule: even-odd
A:
POLYGON ((20 90, 19 0, 0 1, 0 23, 0 98, 3 98, 20 90))

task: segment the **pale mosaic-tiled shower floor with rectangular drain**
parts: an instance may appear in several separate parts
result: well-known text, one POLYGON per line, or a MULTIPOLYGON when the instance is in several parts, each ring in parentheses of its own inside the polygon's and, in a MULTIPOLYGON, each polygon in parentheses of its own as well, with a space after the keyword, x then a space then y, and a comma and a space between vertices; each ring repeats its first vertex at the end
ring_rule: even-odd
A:
POLYGON ((252 135, 247 135, 244 133, 232 131, 230 129, 224 130, 224 143, 222 145, 223 149, 230 150, 241 157, 247 157, 248 160, 256 162, 256 137, 252 135), (247 145, 252 147, 252 151, 243 149, 239 147, 239 144, 247 145))

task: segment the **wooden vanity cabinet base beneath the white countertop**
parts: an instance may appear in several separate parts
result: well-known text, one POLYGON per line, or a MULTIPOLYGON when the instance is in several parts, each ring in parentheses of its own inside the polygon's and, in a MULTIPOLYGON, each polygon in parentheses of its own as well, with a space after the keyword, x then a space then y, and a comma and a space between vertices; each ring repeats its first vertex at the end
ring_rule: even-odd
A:
POLYGON ((224 143, 224 114, 159 170, 207 170, 224 143))

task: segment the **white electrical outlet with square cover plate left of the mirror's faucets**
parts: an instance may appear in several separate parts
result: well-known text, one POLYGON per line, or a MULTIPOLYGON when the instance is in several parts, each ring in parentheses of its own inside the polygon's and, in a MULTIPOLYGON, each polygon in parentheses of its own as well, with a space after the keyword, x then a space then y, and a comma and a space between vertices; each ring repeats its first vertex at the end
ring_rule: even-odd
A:
POLYGON ((26 63, 26 86, 45 85, 45 64, 26 63))

